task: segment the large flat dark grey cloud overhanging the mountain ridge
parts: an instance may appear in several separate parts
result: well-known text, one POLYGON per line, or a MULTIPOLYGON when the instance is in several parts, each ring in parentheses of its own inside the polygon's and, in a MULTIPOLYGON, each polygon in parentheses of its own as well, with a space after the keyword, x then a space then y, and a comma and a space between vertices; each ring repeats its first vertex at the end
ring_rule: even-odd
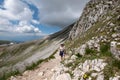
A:
POLYGON ((40 11, 40 22, 65 27, 76 21, 89 0, 28 0, 40 11))

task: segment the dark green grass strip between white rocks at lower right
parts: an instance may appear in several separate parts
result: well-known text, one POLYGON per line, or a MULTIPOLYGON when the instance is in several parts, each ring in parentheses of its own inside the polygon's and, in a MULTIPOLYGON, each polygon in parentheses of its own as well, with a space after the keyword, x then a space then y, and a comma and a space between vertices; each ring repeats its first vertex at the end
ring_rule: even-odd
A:
POLYGON ((116 72, 120 73, 120 61, 115 59, 115 57, 110 52, 110 44, 102 43, 100 46, 101 57, 105 57, 106 63, 108 65, 103 70, 106 80, 109 80, 110 77, 115 76, 116 72))

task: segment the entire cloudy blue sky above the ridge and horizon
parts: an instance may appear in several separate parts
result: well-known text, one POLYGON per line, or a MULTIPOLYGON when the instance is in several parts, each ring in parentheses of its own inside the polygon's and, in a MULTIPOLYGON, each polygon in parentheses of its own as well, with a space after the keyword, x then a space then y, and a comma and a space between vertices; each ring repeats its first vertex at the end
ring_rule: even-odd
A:
POLYGON ((88 0, 0 0, 0 40, 28 41, 75 22, 88 0))

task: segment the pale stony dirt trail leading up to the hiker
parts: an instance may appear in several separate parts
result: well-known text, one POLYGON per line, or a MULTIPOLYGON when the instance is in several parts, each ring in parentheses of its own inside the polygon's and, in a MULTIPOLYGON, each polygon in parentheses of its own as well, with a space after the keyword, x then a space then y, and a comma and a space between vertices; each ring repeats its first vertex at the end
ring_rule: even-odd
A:
POLYGON ((51 80, 55 67, 60 65, 60 56, 57 52, 55 59, 42 62, 34 70, 25 71, 22 76, 12 76, 9 80, 51 80))

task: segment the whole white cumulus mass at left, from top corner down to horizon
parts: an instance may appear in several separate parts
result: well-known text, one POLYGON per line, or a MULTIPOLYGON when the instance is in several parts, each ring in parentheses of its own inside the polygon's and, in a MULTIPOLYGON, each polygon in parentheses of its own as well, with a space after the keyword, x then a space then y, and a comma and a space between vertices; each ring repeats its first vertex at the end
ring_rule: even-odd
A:
POLYGON ((30 24, 39 24, 33 19, 33 11, 21 0, 4 0, 0 5, 0 32, 11 33, 41 33, 39 28, 30 24), (4 8, 4 9, 3 9, 4 8), (18 24, 13 24, 10 20, 18 20, 18 24))

